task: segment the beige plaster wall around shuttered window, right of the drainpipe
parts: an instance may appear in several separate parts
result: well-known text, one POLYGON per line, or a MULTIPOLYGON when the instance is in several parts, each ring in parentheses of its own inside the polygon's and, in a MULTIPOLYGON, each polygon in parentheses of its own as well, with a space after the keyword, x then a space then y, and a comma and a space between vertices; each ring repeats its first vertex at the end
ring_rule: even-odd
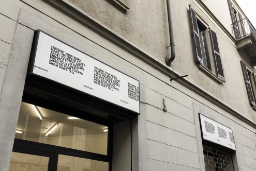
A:
MULTIPOLYGON (((240 66, 240 60, 247 57, 245 55, 241 56, 234 43, 227 37, 227 35, 225 35, 225 33, 223 33, 218 25, 209 18, 205 11, 202 11, 198 7, 197 3, 192 2, 191 6, 195 12, 197 12, 201 21, 206 23, 207 26, 217 33, 226 82, 218 84, 212 78, 207 77, 205 73, 199 71, 197 64, 194 62, 194 43, 189 25, 190 18, 188 4, 188 2, 182 1, 173 5, 173 23, 179 23, 180 25, 176 27, 174 26, 174 35, 183 36, 177 36, 177 38, 175 38, 177 58, 172 63, 171 67, 182 75, 188 74, 189 80, 255 122, 255 111, 249 104, 244 77, 240 66), (183 9, 183 11, 180 11, 179 9, 183 9), (186 15, 180 15, 180 13, 186 13, 186 15), (180 18, 183 18, 183 21, 186 22, 179 22, 180 18)), ((229 9, 227 8, 226 11, 228 10, 229 9)), ((229 18, 229 15, 225 18, 229 18)), ((248 64, 250 66, 250 63, 248 64)))

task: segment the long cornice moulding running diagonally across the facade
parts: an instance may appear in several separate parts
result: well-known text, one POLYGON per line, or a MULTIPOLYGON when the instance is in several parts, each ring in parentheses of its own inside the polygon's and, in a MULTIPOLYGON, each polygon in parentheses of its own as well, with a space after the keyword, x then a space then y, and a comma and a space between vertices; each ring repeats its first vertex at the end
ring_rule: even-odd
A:
MULTIPOLYGON (((59 11, 62 11, 66 15, 70 16, 72 19, 74 19, 74 20, 80 22, 81 24, 83 24, 84 26, 86 26, 86 27, 92 29, 93 31, 97 32, 100 36, 108 39, 112 43, 116 44, 117 46, 121 47, 122 49, 124 49, 127 52, 129 52, 130 54, 132 54, 133 56, 141 59, 142 61, 144 61, 148 65, 154 67, 156 70, 163 73, 164 75, 166 75, 170 78, 175 78, 175 77, 180 77, 181 76, 180 74, 174 72, 170 67, 165 65, 163 62, 157 60, 153 56, 150 56, 149 54, 144 52, 144 50, 142 50, 139 47, 133 45, 131 42, 129 42, 125 38, 119 36, 117 33, 112 31, 110 28, 108 28, 107 26, 104 26, 103 24, 101 24, 97 20, 93 19, 87 13, 85 13, 84 11, 79 9, 78 7, 74 6, 73 4, 69 3, 68 1, 66 1, 66 0, 43 0, 43 1, 47 2, 48 4, 53 6, 54 8, 58 9, 59 11)), ((196 1, 201 2, 201 0, 196 0, 196 1)), ((205 7, 204 4, 202 4, 202 6, 205 7)), ((208 8, 205 8, 205 9, 207 9, 206 11, 208 11, 209 14, 213 15, 212 12, 210 12, 208 8)), ((214 15, 213 15, 213 19, 215 19, 217 21, 217 23, 219 23, 221 28, 225 32, 227 32, 227 35, 229 35, 229 37, 235 42, 234 37, 229 33, 229 31, 227 29, 224 28, 224 26, 216 19, 216 17, 214 15)), ((182 84, 186 88, 192 90, 193 92, 197 93, 198 95, 204 97, 205 99, 209 100, 210 102, 212 102, 216 106, 220 107, 221 109, 223 109, 223 110, 229 112, 230 114, 236 116, 237 118, 241 119, 242 121, 244 121, 245 123, 247 123, 248 125, 250 125, 250 126, 252 126, 253 128, 256 129, 256 123, 254 123, 250 119, 244 117, 242 114, 238 113, 237 111, 235 111, 234 109, 232 109, 228 105, 224 104, 224 102, 220 101, 219 99, 217 99, 213 95, 210 95, 206 91, 202 90, 199 86, 190 82, 186 78, 178 79, 177 82, 182 84)), ((193 98, 193 97, 191 97, 191 98, 193 98)))

